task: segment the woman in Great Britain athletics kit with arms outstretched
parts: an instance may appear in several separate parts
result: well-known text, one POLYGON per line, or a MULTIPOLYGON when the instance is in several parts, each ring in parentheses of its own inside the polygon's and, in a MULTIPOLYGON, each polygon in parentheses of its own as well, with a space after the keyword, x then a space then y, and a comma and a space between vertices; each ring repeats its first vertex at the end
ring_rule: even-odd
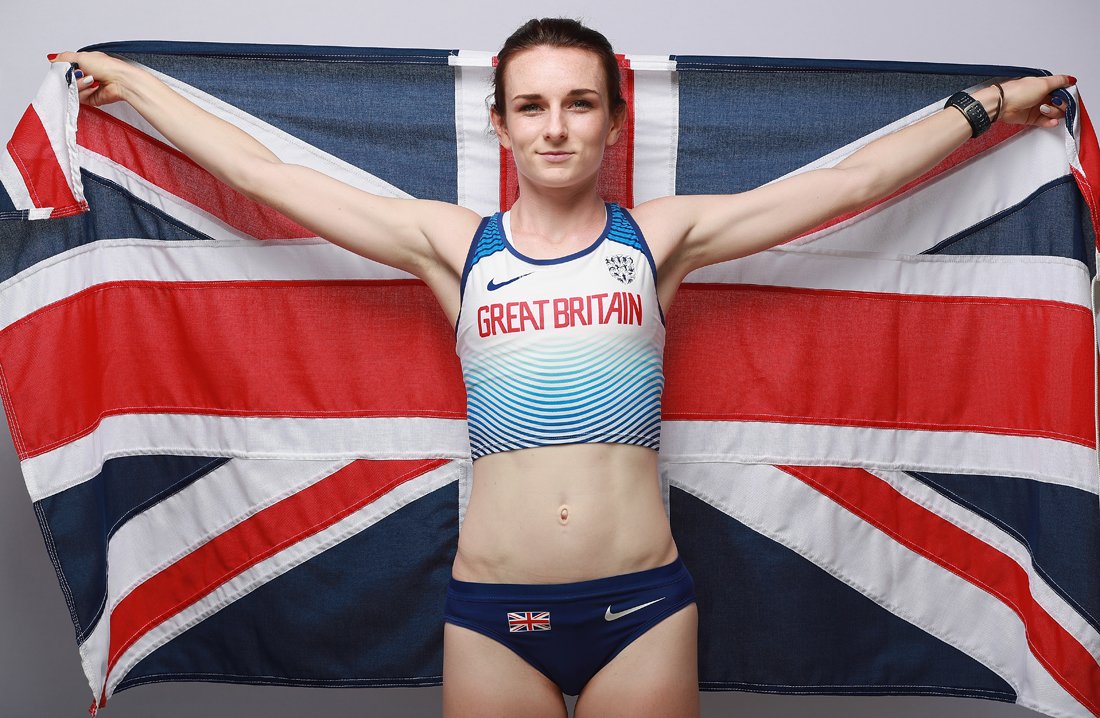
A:
POLYGON ((498 55, 491 110, 519 199, 483 219, 284 164, 102 53, 51 59, 82 71, 82 102, 130 102, 249 197, 421 278, 457 324, 474 488, 447 595, 447 716, 561 717, 563 691, 580 694, 579 718, 697 715, 695 594, 657 475, 662 308, 693 269, 891 194, 982 122, 1057 125, 1052 92, 1075 81, 990 86, 833 168, 627 210, 596 192, 626 115, 612 47, 574 21, 532 20, 498 55))

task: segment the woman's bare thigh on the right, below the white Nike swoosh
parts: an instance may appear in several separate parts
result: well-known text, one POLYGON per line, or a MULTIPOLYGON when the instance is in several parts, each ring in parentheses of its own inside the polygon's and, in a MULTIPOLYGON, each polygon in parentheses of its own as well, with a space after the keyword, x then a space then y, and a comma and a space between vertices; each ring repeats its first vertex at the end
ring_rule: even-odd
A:
POLYGON ((623 649, 584 686, 574 716, 696 718, 697 606, 684 606, 623 649))

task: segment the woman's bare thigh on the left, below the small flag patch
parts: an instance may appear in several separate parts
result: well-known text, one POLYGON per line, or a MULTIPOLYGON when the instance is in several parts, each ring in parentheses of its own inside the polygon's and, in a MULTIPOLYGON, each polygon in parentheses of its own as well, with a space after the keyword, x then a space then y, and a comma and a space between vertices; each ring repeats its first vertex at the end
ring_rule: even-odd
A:
POLYGON ((443 623, 443 718, 565 718, 561 691, 512 649, 443 623))

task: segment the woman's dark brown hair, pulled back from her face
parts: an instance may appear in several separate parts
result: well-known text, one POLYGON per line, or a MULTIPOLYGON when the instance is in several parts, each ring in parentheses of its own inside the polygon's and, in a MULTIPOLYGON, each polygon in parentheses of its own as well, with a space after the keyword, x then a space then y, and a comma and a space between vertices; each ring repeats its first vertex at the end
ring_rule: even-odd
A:
POLYGON ((626 100, 619 89, 618 58, 612 44, 600 32, 585 27, 570 18, 542 18, 528 20, 519 30, 504 42, 504 47, 496 54, 496 70, 493 73, 493 109, 504 117, 506 103, 504 100, 504 69, 512 57, 531 47, 579 47, 595 53, 604 68, 607 78, 607 98, 612 114, 626 107, 626 100))

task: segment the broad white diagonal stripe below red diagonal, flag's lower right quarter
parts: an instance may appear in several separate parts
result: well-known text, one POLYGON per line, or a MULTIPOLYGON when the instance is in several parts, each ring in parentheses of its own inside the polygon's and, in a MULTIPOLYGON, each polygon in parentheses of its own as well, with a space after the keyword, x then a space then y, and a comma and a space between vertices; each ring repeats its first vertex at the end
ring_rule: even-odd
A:
POLYGON ((1091 716, 1031 652, 1023 621, 1009 606, 804 482, 766 465, 684 464, 670 471, 676 488, 989 667, 1012 686, 1019 705, 1054 716, 1091 716))

